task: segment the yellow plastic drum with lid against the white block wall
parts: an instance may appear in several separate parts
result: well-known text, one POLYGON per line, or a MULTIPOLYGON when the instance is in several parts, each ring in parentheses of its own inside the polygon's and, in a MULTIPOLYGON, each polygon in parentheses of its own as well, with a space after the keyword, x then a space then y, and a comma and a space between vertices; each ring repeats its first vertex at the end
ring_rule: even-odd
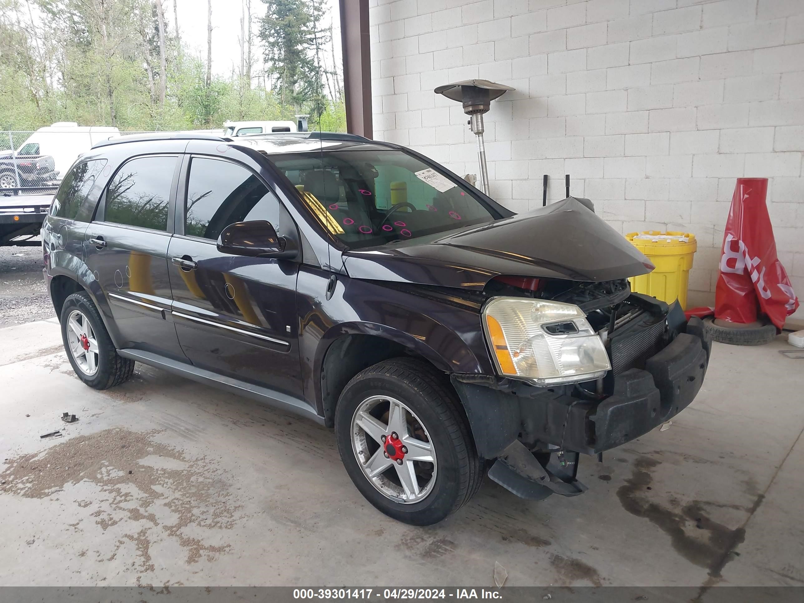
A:
POLYGON ((668 304, 678 299, 681 307, 686 310, 692 257, 698 248, 695 235, 689 232, 649 230, 630 232, 626 239, 656 266, 652 273, 631 277, 631 290, 667 301, 668 304))

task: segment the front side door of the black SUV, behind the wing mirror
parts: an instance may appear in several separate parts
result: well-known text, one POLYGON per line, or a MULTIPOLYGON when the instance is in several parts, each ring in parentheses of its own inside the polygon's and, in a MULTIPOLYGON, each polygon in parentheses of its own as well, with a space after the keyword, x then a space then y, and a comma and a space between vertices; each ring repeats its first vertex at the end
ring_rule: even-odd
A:
POLYGON ((179 343, 199 368, 301 398, 296 262, 216 246, 235 222, 265 219, 280 235, 296 226, 246 166, 189 155, 185 164, 168 252, 179 343))

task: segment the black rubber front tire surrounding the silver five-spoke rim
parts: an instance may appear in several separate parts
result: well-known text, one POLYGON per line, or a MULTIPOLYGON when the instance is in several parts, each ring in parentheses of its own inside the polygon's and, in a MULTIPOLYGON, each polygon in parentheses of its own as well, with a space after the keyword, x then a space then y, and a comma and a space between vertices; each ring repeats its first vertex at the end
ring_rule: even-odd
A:
MULTIPOLYGON (((388 404, 390 412, 390 405, 393 403, 388 404)), ((371 412, 375 411, 372 409, 371 412)), ((390 430, 392 425, 399 425, 390 420, 388 415, 379 416, 378 425, 385 430, 390 430), (383 418, 388 421, 388 425, 383 422, 383 418)), ((392 437, 392 434, 386 437, 392 437)), ((360 493, 379 511, 403 523, 428 526, 440 522, 468 503, 482 482, 482 461, 474 448, 461 402, 441 372, 429 363, 417 359, 385 360, 355 375, 343 389, 335 408, 335 437, 347 474, 360 493), (379 401, 370 401, 375 398, 379 401), (388 450, 387 444, 392 440, 387 440, 386 445, 379 444, 378 439, 368 437, 367 431, 355 426, 353 420, 355 417, 365 416, 359 415, 358 411, 368 408, 367 404, 377 404, 375 408, 383 412, 383 404, 388 398, 407 407, 405 414, 408 416, 408 425, 405 431, 410 432, 412 425, 415 427, 412 433, 398 436, 411 446, 410 451, 404 448, 402 450, 412 457, 415 446, 411 442, 418 441, 425 445, 429 443, 432 446, 434 462, 429 480, 422 478, 419 472, 426 477, 427 468, 431 464, 428 461, 415 461, 416 475, 413 475, 413 479, 418 482, 416 487, 421 485, 418 495, 423 495, 423 498, 410 496, 411 499, 403 501, 396 495, 388 494, 388 490, 394 487, 403 490, 400 476, 403 475, 404 468, 413 466, 409 459, 403 461, 404 465, 400 468, 391 461, 388 470, 384 470, 376 478, 384 482, 383 486, 376 485, 375 480, 369 478, 363 470, 363 466, 369 464, 365 460, 370 451, 359 451, 359 443, 355 442, 365 441, 367 445, 373 445, 379 462, 383 462, 379 453, 388 450), (426 439, 422 433, 426 434, 426 439), (425 442, 422 442, 423 439, 425 442), (361 453, 363 460, 359 460, 361 453), (398 485, 393 483, 395 478, 398 485)), ((397 459, 396 463, 399 464, 400 461, 402 459, 397 459)), ((404 497, 408 495, 406 493, 408 490, 404 490, 399 496, 404 497)))

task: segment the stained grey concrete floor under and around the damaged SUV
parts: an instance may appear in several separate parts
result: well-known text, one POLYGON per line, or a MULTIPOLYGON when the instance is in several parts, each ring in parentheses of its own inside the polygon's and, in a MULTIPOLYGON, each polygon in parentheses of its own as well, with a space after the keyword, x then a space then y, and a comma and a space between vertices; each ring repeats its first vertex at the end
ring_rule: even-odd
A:
POLYGON ((494 562, 506 587, 804 585, 804 361, 781 338, 716 344, 691 408, 584 457, 580 497, 486 480, 428 528, 366 503, 317 425, 139 364, 86 388, 55 318, 0 341, 0 585, 491 586, 494 562))

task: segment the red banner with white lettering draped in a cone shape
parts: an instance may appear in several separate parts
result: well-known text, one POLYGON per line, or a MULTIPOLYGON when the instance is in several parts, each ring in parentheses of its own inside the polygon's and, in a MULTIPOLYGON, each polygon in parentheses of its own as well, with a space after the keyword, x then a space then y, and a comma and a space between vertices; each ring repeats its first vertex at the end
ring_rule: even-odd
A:
POLYGON ((715 318, 748 323, 765 314, 781 332, 798 298, 776 256, 767 193, 768 178, 737 178, 720 250, 715 318))

